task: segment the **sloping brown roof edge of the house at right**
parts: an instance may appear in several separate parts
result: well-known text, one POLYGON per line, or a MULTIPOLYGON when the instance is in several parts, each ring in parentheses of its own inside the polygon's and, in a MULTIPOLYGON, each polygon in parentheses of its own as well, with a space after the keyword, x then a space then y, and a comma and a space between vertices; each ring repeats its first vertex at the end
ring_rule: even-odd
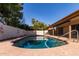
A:
POLYGON ((63 24, 63 23, 69 22, 70 19, 72 19, 72 18, 74 18, 74 17, 76 17, 76 16, 79 16, 79 10, 77 10, 77 11, 71 13, 70 15, 68 15, 68 16, 66 16, 66 17, 64 17, 64 18, 62 18, 62 19, 60 19, 59 21, 55 22, 54 24, 49 25, 48 28, 55 27, 55 26, 61 25, 61 24, 63 24))

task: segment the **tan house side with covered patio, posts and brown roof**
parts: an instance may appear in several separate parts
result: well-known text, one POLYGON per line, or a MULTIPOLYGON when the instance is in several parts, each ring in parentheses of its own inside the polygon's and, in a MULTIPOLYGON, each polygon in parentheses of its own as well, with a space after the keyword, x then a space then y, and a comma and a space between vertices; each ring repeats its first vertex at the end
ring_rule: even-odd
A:
POLYGON ((53 36, 63 36, 78 39, 79 36, 79 10, 64 17, 48 28, 48 33, 53 36))

